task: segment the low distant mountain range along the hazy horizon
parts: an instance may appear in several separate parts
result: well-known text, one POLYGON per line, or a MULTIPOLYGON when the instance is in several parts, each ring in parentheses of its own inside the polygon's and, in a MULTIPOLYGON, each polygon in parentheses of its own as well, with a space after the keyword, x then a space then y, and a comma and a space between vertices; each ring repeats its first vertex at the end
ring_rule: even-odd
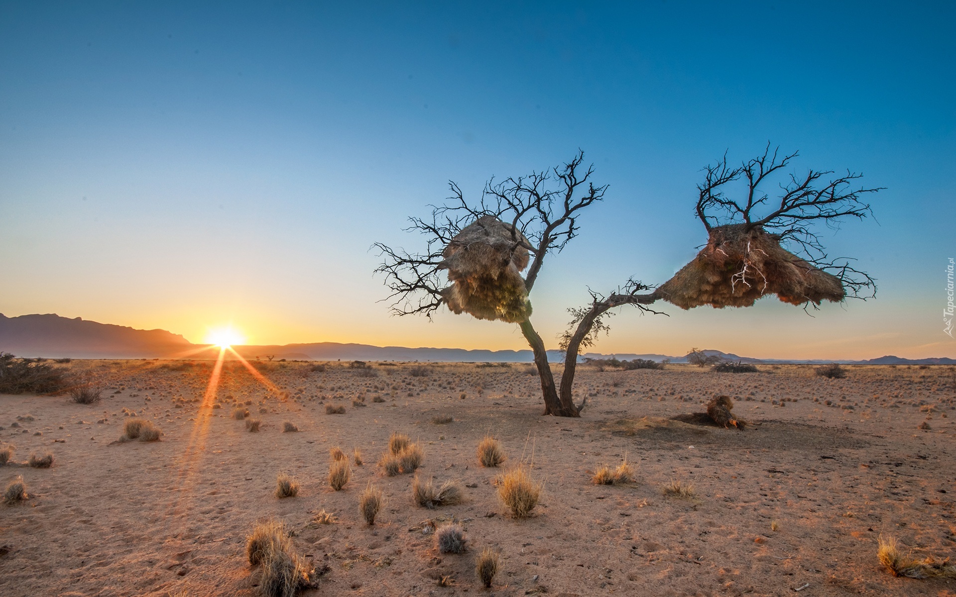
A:
MULTIPOLYGON (((400 346, 370 346, 367 344, 340 344, 315 342, 312 344, 286 344, 263 346, 236 346, 236 352, 244 358, 274 360, 319 360, 319 361, 450 361, 450 362, 508 362, 530 363, 532 352, 525 351, 466 351, 464 349, 409 349, 400 346)), ((192 344, 179 334, 166 330, 134 330, 112 324, 69 319, 55 314, 20 315, 6 317, 0 314, 0 352, 12 352, 18 356, 45 356, 71 358, 211 358, 214 347, 192 344)), ((744 363, 831 363, 831 360, 757 359, 720 351, 704 351, 733 361, 744 363)), ((553 362, 563 360, 564 353, 549 351, 553 362)), ((666 354, 599 354, 588 352, 580 358, 636 358, 661 362, 686 363, 686 356, 666 354)), ((863 361, 837 360, 838 363, 861 365, 954 365, 956 359, 923 358, 907 359, 898 356, 881 356, 863 361)))

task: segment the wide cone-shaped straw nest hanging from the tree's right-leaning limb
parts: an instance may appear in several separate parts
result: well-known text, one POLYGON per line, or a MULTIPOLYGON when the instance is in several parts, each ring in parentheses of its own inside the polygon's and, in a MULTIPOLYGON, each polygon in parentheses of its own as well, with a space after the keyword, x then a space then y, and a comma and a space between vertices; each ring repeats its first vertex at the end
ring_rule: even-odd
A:
POLYGON ((819 305, 842 301, 846 291, 839 278, 782 248, 778 235, 747 224, 711 228, 697 257, 654 291, 682 309, 751 307, 766 294, 792 305, 819 305))

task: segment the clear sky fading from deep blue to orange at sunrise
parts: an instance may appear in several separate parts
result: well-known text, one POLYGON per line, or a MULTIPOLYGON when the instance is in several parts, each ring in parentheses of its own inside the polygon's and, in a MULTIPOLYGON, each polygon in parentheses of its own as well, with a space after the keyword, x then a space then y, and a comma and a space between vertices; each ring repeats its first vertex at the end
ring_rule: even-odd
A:
POLYGON ((395 318, 372 275, 404 218, 578 148, 610 187, 544 269, 549 347, 587 288, 659 284, 706 234, 701 168, 770 140, 886 187, 828 233, 876 300, 622 310, 601 352, 956 356, 949 3, 0 3, 0 312, 202 341, 523 348, 395 318))

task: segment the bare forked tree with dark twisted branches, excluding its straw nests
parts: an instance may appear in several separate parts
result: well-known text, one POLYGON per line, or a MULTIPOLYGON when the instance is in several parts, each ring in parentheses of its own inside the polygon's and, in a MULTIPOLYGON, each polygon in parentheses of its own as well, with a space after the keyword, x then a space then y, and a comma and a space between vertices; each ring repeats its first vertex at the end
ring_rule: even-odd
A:
MULTIPOLYGON (((848 174, 815 190, 815 183, 829 173, 811 171, 807 178, 792 179, 793 184, 785 185, 780 204, 758 217, 756 210, 769 202, 766 195, 758 192, 759 185, 773 172, 785 167, 795 154, 779 162, 776 156, 774 152, 771 157, 768 148, 762 158, 745 162, 739 168, 729 168, 726 159, 706 168, 697 214, 707 231, 713 226, 735 223, 767 228, 780 234, 781 239, 805 249, 804 252, 815 251, 808 255, 808 261, 822 267, 836 267, 849 280, 850 288, 873 288, 869 276, 845 263, 826 262, 826 253, 810 224, 815 220, 830 224, 848 215, 865 216, 869 213, 869 205, 860 203, 859 196, 877 189, 847 189, 846 186, 858 178, 858 175, 848 174), (742 178, 750 183, 746 200, 729 200, 723 192, 724 185, 742 178), (861 277, 853 277, 858 274, 861 277)), ((386 300, 392 302, 392 312, 397 315, 419 313, 430 318, 436 309, 449 304, 448 283, 442 276, 442 269, 446 268, 443 251, 467 225, 487 216, 510 226, 512 254, 528 251, 531 262, 524 285, 531 293, 545 258, 560 252, 575 238, 581 211, 604 198, 607 185, 596 186, 592 181, 594 166, 585 169, 583 162, 584 154, 578 151, 573 160, 550 171, 532 172, 529 176, 504 181, 492 179, 486 184, 481 198, 474 203, 465 199, 456 183, 449 182, 452 195, 447 203, 432 205, 428 219, 410 219, 407 230, 424 235, 424 252, 409 253, 381 243, 375 245, 383 258, 376 271, 384 274, 385 284, 391 290, 386 300)), ((554 383, 544 342, 534 330, 530 316, 517 322, 534 354, 545 415, 579 416, 584 405, 583 402, 580 405, 574 403, 572 389, 580 349, 591 346, 598 333, 608 330, 605 318, 613 314, 611 309, 631 305, 641 312, 657 313, 648 305, 667 297, 656 291, 647 292, 650 289, 630 279, 606 294, 591 291, 590 305, 569 309, 573 319, 570 329, 560 339, 565 362, 559 389, 554 383)))

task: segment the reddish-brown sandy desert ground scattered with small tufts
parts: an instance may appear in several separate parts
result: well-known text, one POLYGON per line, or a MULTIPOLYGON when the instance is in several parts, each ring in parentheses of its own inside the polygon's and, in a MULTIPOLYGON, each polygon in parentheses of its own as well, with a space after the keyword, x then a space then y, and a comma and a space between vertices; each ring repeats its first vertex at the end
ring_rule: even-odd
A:
POLYGON ((209 361, 63 365, 105 381, 93 405, 0 396, 0 441, 16 447, 0 482, 22 475, 30 495, 0 505, 0 594, 254 595, 246 538, 276 518, 300 554, 329 566, 306 595, 956 595, 956 581, 894 578, 876 557, 880 534, 915 555, 956 555, 953 368, 848 367, 827 379, 803 366, 585 367, 576 389, 588 406, 571 419, 540 416, 525 365, 424 365, 424 376, 410 374, 416 364, 314 365, 257 364, 268 390, 227 362, 219 408, 201 408, 209 361), (671 418, 702 412, 713 394, 732 396, 752 425, 671 418), (237 403, 262 420, 258 433, 230 417, 237 403), (327 415, 329 404, 345 413, 327 415), (119 442, 133 413, 162 440, 119 442), (284 433, 285 421, 299 431, 284 433), (464 503, 424 509, 410 475, 382 474, 395 431, 422 442, 420 475, 467 484, 464 503), (544 493, 532 518, 507 515, 501 470, 477 462, 486 434, 504 444, 505 469, 533 460, 544 493), (326 481, 334 446, 364 458, 342 491, 326 481), (51 468, 19 464, 46 452, 51 468), (625 455, 636 483, 591 482, 625 455), (297 497, 273 496, 283 471, 301 483, 297 497), (357 508, 370 480, 387 500, 374 526, 357 508), (696 498, 665 497, 670 480, 696 498), (313 523, 321 510, 337 522, 313 523), (466 554, 439 554, 428 532, 450 519, 466 528, 466 554), (502 558, 490 589, 473 564, 486 546, 502 558))

